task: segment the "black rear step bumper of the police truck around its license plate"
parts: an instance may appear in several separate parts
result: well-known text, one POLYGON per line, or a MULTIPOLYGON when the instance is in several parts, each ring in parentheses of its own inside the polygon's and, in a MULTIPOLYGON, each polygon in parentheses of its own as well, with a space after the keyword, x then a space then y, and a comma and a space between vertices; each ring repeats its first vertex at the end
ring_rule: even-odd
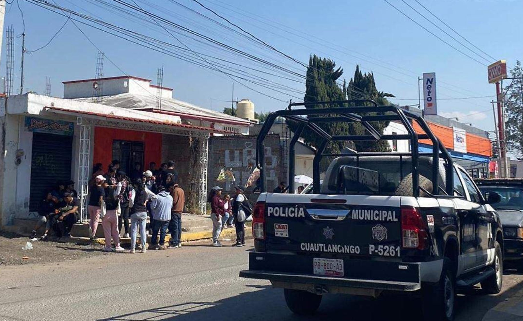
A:
POLYGON ((314 256, 249 253, 249 269, 240 277, 285 283, 341 286, 354 289, 416 291, 421 288, 420 263, 344 259, 343 276, 314 274, 314 256))

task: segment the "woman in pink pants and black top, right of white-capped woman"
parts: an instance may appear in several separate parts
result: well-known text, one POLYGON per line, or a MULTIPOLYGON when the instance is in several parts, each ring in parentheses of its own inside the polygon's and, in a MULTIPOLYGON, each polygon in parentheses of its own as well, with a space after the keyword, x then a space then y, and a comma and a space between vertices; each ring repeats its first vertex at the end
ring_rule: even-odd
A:
POLYGON ((120 246, 120 232, 118 231, 118 216, 116 215, 116 209, 118 208, 118 197, 115 195, 115 189, 112 186, 105 186, 105 206, 106 214, 101 220, 101 224, 104 227, 105 236, 105 248, 104 251, 110 252, 111 249, 111 236, 112 241, 115 243, 115 251, 123 252, 123 248, 120 246))

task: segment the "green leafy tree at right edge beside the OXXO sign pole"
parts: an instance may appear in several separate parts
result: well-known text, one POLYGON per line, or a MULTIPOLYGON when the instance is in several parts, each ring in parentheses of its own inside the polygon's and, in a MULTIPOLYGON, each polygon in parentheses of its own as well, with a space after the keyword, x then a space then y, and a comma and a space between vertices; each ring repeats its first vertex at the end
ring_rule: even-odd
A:
POLYGON ((510 70, 513 81, 505 89, 505 141, 507 149, 517 157, 523 155, 523 68, 521 62, 510 70))

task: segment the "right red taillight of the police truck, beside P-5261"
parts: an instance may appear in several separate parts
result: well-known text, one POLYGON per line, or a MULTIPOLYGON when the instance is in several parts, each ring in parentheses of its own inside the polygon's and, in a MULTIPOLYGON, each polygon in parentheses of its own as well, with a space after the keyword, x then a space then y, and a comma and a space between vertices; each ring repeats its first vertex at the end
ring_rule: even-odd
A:
POLYGON ((427 244, 427 230, 422 216, 416 208, 401 207, 401 234, 404 248, 424 249, 427 244))

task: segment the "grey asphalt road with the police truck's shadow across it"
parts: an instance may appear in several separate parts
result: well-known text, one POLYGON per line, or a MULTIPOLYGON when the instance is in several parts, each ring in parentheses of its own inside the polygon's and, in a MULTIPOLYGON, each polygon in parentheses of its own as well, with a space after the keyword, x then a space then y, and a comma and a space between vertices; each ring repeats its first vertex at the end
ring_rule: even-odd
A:
MULTIPOLYGON (((238 278, 244 248, 198 243, 147 254, 107 253, 54 264, 0 268, 0 320, 419 320, 407 296, 367 299, 326 295, 316 315, 294 316, 282 291, 238 278)), ((71 250, 74 251, 74 250, 71 250)), ((475 289, 458 297, 458 321, 481 320, 488 309, 523 288, 508 271, 504 292, 475 289)))

